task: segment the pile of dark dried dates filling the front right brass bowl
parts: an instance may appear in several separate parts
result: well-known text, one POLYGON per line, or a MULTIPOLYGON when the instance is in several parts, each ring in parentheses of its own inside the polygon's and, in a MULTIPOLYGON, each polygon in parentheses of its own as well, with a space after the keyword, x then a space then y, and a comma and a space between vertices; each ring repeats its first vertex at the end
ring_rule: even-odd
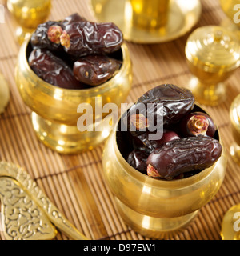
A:
POLYGON ((222 154, 214 122, 194 104, 190 90, 171 84, 154 87, 138 98, 122 118, 126 122, 119 122, 118 148, 130 166, 152 178, 190 177, 212 166, 222 154), (146 111, 138 110, 140 103, 146 111), (154 107, 147 109, 149 103, 154 107), (163 104, 162 112, 157 111, 158 103, 163 104), (151 122, 160 114, 162 138, 150 139, 151 122), (121 131, 121 126, 126 126, 126 132, 121 131), (131 130, 131 126, 135 129, 131 130))

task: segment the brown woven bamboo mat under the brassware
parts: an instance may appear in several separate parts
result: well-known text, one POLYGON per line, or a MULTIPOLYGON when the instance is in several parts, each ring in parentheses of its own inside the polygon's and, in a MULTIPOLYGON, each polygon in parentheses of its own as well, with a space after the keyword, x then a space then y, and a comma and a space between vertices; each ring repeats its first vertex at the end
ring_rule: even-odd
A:
MULTIPOLYGON (((59 20, 76 11, 94 20, 88 0, 53 0, 50 19, 59 20)), ((19 46, 15 42, 13 22, 7 10, 5 18, 6 23, 0 24, 0 71, 10 84, 11 98, 6 112, 0 116, 0 160, 24 167, 62 214, 87 238, 149 239, 126 226, 114 206, 113 195, 102 176, 104 145, 83 154, 61 155, 38 142, 30 122, 30 109, 22 102, 14 82, 19 46)), ((202 16, 192 30, 198 26, 219 25, 225 18, 218 0, 202 0, 202 16)), ((164 82, 178 86, 187 84, 190 71, 186 66, 184 48, 189 34, 162 44, 126 42, 134 71, 133 87, 127 102, 134 102, 146 90, 164 82)), ((219 232, 223 215, 230 206, 240 202, 240 168, 230 156, 230 144, 234 139, 229 118, 230 103, 240 93, 239 80, 240 72, 237 70, 226 82, 226 102, 206 107, 217 123, 226 146, 226 178, 218 194, 202 207, 194 222, 173 239, 221 239, 219 232)), ((56 239, 68 238, 59 232, 56 239)))

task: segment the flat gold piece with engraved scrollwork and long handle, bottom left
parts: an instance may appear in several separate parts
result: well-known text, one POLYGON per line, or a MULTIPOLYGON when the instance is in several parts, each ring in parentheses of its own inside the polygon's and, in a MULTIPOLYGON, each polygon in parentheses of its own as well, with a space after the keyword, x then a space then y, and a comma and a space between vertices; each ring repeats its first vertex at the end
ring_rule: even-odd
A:
POLYGON ((19 166, 0 162, 0 199, 7 240, 53 239, 57 234, 54 226, 70 238, 86 239, 19 166))

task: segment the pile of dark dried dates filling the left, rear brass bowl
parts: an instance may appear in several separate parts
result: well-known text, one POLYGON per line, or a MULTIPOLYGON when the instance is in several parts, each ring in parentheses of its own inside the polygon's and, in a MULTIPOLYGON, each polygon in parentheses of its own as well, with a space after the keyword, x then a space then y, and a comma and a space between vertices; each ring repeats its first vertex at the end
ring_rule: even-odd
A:
POLYGON ((114 23, 88 22, 72 14, 62 22, 38 25, 30 38, 28 61, 34 73, 51 85, 87 89, 118 72, 122 42, 122 31, 114 23))

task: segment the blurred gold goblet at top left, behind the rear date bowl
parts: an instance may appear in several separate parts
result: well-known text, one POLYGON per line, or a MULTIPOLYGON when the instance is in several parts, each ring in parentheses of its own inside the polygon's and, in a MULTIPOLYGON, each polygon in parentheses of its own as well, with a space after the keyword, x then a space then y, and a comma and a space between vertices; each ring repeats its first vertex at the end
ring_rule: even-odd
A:
POLYGON ((20 44, 46 21, 51 8, 51 0, 7 0, 6 4, 18 24, 16 36, 20 44))

